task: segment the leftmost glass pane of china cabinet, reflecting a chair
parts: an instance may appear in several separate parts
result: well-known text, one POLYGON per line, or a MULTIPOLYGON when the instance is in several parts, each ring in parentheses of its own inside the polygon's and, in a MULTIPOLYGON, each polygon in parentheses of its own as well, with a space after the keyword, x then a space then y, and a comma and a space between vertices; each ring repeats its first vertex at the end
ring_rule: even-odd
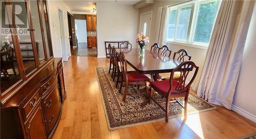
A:
POLYGON ((3 94, 8 88, 20 80, 17 60, 15 57, 15 48, 10 33, 9 20, 7 18, 6 5, 1 2, 1 14, 5 25, 1 25, 0 34, 0 63, 1 63, 1 93, 3 94))

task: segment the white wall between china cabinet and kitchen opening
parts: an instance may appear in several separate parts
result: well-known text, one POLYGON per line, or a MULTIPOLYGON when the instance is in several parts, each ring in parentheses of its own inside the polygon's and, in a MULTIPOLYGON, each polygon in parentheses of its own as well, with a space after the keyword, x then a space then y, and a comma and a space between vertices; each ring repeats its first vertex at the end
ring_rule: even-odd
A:
POLYGON ((67 61, 68 58, 71 56, 70 52, 70 42, 69 38, 69 27, 68 27, 68 17, 67 11, 72 13, 70 8, 63 2, 63 1, 47 1, 48 4, 48 12, 49 12, 49 21, 50 21, 50 30, 51 30, 51 37, 52 37, 52 48, 53 48, 53 56, 54 57, 62 57, 62 48, 61 48, 61 36, 60 36, 60 25, 59 25, 59 17, 58 17, 58 9, 62 10, 63 12, 63 20, 64 20, 64 29, 65 29, 65 40, 66 45, 63 46, 66 49, 67 59, 63 59, 67 61))

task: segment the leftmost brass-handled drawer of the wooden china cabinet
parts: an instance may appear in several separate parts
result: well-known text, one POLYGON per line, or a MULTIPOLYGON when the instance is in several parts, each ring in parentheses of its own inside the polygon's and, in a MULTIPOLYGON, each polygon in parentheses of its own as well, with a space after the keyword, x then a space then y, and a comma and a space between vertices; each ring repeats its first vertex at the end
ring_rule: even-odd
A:
POLYGON ((22 107, 22 111, 24 113, 25 120, 29 117, 29 115, 32 112, 32 110, 34 109, 35 105, 39 102, 39 99, 40 99, 39 89, 37 89, 34 92, 34 95, 27 102, 24 103, 24 105, 22 107))

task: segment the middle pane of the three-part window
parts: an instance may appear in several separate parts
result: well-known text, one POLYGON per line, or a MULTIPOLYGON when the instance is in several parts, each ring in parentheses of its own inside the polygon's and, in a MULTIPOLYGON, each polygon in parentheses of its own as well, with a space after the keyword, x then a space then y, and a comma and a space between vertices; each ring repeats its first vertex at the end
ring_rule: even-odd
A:
POLYGON ((190 20, 191 6, 180 9, 176 39, 186 40, 190 20))

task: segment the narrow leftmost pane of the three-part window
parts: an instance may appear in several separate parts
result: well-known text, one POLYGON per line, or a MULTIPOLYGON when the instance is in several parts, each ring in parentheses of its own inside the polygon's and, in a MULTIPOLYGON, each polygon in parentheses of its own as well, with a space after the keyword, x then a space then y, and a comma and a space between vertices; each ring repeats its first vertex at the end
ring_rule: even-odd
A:
POLYGON ((168 21, 168 30, 167 30, 167 38, 173 39, 174 38, 174 30, 177 18, 177 10, 172 10, 169 13, 169 21, 168 21))

